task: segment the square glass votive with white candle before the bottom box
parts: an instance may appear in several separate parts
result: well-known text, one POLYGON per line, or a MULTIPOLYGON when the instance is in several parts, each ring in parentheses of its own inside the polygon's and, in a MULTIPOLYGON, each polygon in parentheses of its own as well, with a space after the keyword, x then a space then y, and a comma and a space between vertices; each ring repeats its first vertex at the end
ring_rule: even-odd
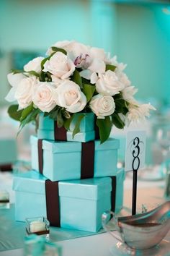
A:
POLYGON ((27 234, 44 235, 47 239, 50 234, 50 223, 45 217, 26 218, 27 234))

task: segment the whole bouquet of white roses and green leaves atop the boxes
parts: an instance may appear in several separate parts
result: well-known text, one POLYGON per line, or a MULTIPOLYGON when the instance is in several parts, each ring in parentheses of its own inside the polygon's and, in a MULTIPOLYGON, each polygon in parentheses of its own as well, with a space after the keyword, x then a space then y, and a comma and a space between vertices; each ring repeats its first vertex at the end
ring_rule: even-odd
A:
POLYGON ((73 116, 81 112, 73 135, 79 132, 84 113, 94 112, 101 142, 109 137, 112 125, 122 129, 131 121, 144 119, 154 109, 139 104, 124 72, 126 65, 111 58, 102 48, 76 41, 61 41, 48 48, 47 57, 39 56, 23 70, 8 74, 12 85, 6 101, 9 116, 20 121, 20 129, 35 121, 40 112, 69 129, 73 116))

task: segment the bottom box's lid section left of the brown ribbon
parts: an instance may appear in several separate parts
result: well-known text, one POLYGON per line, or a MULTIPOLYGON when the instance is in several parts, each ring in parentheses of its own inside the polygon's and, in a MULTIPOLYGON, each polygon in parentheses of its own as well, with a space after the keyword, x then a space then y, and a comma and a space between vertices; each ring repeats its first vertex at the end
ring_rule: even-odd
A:
POLYGON ((14 174, 13 190, 45 194, 45 179, 37 171, 14 174))

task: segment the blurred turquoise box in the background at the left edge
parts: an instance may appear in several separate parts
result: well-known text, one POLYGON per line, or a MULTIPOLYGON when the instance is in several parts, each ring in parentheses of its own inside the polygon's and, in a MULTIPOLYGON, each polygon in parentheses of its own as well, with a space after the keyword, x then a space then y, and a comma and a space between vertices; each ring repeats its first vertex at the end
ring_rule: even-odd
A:
POLYGON ((17 142, 13 139, 0 140, 0 165, 17 161, 17 142))

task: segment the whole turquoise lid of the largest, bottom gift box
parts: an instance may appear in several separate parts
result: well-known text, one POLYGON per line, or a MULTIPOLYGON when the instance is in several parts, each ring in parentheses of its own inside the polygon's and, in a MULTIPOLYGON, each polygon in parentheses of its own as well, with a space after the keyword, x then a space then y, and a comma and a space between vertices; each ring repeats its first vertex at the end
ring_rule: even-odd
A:
MULTIPOLYGON (((13 189, 15 191, 45 194, 45 179, 37 171, 15 174, 13 189)), ((97 200, 104 193, 111 190, 112 185, 109 177, 59 182, 59 195, 61 197, 97 200)))

